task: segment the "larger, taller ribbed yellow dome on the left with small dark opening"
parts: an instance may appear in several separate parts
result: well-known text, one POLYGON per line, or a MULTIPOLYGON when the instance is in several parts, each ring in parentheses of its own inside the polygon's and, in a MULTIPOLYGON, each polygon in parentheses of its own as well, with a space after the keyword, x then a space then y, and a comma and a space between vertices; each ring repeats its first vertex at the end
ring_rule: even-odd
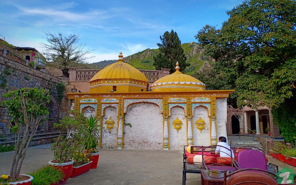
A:
POLYGON ((146 91, 146 76, 133 66, 123 62, 120 52, 118 62, 100 70, 89 81, 90 92, 137 92, 146 91), (143 90, 141 90, 143 89, 143 90))

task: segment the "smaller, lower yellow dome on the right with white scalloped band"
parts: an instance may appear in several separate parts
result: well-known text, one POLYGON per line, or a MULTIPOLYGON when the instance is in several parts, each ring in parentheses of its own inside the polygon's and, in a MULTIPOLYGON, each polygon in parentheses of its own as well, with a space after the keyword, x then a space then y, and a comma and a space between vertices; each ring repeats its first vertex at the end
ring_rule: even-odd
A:
POLYGON ((205 90, 205 84, 196 78, 181 73, 179 63, 176 64, 176 72, 164 76, 151 84, 151 91, 201 91, 205 90))

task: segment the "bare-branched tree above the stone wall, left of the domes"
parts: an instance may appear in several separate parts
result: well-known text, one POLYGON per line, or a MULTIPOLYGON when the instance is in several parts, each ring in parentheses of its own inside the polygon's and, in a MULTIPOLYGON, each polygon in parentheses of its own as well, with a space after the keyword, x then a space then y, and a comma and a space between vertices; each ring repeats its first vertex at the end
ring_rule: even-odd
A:
POLYGON ((87 64, 86 60, 92 58, 86 57, 86 55, 94 50, 86 49, 86 44, 79 43, 81 39, 79 34, 66 35, 60 32, 46 32, 45 34, 47 43, 40 43, 44 48, 43 55, 47 59, 45 64, 61 70, 63 77, 69 77, 69 67, 85 65, 87 64))

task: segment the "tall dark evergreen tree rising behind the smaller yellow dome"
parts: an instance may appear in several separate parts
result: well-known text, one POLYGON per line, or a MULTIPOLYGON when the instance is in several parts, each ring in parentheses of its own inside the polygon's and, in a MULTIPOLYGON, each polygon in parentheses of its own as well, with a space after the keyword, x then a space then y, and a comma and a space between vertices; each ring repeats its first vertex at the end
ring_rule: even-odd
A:
POLYGON ((171 69, 170 73, 175 72, 176 62, 179 62, 180 71, 184 71, 190 64, 186 63, 186 56, 181 47, 181 41, 178 34, 172 30, 170 33, 166 31, 160 36, 161 44, 158 43, 159 53, 153 57, 156 70, 162 68, 171 69))

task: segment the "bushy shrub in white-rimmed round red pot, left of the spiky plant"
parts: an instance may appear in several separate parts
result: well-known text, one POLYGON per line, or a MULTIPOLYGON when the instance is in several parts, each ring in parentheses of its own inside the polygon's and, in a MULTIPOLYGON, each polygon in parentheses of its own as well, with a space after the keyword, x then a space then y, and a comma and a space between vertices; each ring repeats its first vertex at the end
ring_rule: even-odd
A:
POLYGON ((73 116, 67 116, 54 123, 54 128, 59 131, 59 137, 52 144, 54 160, 49 165, 61 169, 65 174, 59 184, 66 184, 73 170, 73 157, 76 151, 81 151, 85 143, 85 117, 78 111, 68 111, 73 116))

